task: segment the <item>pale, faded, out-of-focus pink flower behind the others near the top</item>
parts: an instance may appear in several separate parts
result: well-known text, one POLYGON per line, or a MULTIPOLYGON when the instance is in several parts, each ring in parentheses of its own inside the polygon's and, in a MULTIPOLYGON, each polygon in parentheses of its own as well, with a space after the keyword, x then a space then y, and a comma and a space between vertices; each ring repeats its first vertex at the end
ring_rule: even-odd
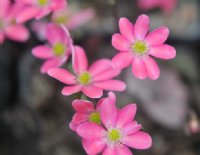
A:
POLYGON ((69 30, 74 30, 88 23, 94 16, 95 12, 92 8, 74 11, 71 7, 66 7, 53 13, 52 22, 64 24, 69 30))

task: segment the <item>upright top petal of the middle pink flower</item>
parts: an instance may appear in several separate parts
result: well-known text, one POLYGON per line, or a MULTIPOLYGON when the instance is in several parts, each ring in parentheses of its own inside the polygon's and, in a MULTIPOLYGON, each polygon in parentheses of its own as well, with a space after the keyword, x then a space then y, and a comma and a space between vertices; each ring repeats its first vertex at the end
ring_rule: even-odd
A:
POLYGON ((87 71, 88 60, 85 51, 82 47, 74 47, 74 52, 72 53, 72 64, 73 69, 77 74, 87 71))

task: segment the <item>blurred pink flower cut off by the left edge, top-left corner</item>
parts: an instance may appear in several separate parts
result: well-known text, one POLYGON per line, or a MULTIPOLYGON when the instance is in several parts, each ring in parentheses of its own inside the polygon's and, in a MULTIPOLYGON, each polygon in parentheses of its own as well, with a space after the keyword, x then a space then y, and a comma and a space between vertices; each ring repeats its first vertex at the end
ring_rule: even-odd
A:
POLYGON ((29 38, 29 31, 23 24, 16 23, 16 13, 20 5, 11 4, 10 0, 0 0, 0 44, 7 37, 24 42, 29 38))

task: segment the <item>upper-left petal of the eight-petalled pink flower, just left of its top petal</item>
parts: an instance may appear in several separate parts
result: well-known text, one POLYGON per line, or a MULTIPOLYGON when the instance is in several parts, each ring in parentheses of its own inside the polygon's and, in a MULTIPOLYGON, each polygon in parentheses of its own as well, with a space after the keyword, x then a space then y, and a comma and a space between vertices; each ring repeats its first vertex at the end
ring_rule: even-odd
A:
POLYGON ((134 26, 127 18, 120 18, 119 20, 119 29, 122 34, 127 40, 130 42, 134 42, 134 26))

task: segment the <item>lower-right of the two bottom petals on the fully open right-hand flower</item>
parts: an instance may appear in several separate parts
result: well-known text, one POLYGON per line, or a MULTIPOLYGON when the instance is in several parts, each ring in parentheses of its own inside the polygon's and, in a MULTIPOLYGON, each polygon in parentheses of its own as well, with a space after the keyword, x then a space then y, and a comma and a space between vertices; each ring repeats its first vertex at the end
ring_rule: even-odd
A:
POLYGON ((160 70, 157 63, 150 56, 144 57, 143 61, 146 66, 148 77, 152 80, 156 80, 160 75, 160 70))

